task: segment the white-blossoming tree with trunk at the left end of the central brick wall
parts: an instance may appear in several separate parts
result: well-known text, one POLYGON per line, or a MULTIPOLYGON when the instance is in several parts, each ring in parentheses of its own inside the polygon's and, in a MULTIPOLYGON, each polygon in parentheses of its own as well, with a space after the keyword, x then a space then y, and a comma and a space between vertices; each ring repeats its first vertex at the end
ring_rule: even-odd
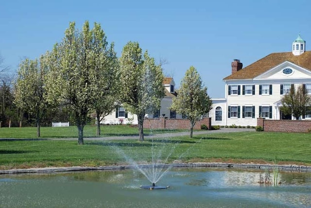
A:
POLYGON ((146 113, 160 108, 164 97, 163 71, 137 42, 128 42, 120 58, 121 103, 138 116, 139 141, 144 141, 143 121, 146 113))

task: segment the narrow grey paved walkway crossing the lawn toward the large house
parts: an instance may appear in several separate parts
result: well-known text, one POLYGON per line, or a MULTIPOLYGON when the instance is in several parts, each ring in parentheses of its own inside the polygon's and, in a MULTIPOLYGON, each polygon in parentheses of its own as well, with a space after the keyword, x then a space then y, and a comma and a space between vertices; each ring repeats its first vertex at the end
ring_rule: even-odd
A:
MULTIPOLYGON (((219 130, 207 130, 207 131, 193 131, 193 135, 202 134, 214 134, 214 133, 230 133, 230 132, 244 132, 250 131, 254 132, 255 128, 221 128, 219 130)), ((168 138, 177 136, 187 136, 190 131, 174 132, 174 133, 163 133, 144 136, 144 139, 155 139, 155 138, 168 138)), ((125 139, 139 139, 138 136, 116 136, 116 137, 84 137, 84 140, 125 140, 125 139)), ((77 140, 77 138, 51 138, 50 140, 77 140)))

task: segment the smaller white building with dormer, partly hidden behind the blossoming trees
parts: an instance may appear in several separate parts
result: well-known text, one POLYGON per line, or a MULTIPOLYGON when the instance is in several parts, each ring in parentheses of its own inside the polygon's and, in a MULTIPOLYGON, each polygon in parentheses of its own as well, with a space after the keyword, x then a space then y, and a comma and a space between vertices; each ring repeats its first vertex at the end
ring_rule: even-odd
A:
MULTIPOLYGON (((175 92, 175 82, 173 78, 164 78, 163 85, 165 87, 165 96, 161 100, 161 108, 153 113, 146 114, 146 118, 158 118, 159 116, 169 118, 181 118, 181 115, 176 115, 171 111, 169 107, 172 105, 173 97, 177 96, 175 92)), ((116 111, 104 117, 101 124, 138 124, 138 118, 136 114, 127 112, 123 107, 119 107, 116 111)))

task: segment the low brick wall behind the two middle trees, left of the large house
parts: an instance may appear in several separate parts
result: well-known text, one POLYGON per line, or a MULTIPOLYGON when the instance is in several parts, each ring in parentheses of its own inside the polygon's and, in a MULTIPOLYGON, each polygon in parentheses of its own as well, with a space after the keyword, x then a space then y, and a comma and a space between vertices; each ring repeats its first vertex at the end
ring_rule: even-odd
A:
MULTIPOLYGON (((203 118, 197 121, 193 129, 201 129, 202 124, 211 129, 211 118, 203 118)), ((143 128, 190 129, 190 121, 188 119, 168 119, 164 117, 145 119, 143 128)))

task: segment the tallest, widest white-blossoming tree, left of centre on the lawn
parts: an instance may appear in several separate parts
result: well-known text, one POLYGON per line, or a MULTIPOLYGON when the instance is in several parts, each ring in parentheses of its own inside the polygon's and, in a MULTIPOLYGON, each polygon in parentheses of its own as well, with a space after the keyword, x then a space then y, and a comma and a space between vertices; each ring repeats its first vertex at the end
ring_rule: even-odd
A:
MULTIPOLYGON (((47 97, 51 103, 66 103, 71 107, 78 128, 78 144, 84 144, 83 129, 99 98, 96 96, 98 89, 107 88, 100 81, 105 79, 101 78, 103 73, 100 71, 105 69, 105 59, 110 54, 106 46, 106 37, 99 24, 95 23, 90 30, 86 21, 78 31, 75 23, 70 22, 63 41, 55 44, 49 53, 47 97)), ((111 48, 113 50, 113 46, 111 48)))

